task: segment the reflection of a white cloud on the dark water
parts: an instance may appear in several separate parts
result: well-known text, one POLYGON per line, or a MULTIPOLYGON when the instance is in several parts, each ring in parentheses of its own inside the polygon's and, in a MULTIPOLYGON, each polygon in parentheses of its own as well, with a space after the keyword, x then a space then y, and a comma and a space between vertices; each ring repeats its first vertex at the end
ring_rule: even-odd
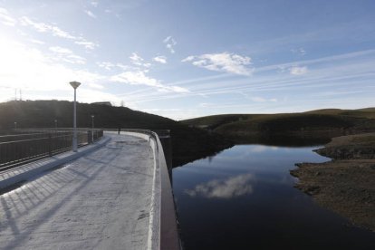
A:
POLYGON ((251 174, 239 175, 224 180, 214 179, 204 184, 199 184, 192 190, 185 190, 190 197, 207 198, 232 198, 253 193, 253 187, 249 181, 253 179, 251 174))

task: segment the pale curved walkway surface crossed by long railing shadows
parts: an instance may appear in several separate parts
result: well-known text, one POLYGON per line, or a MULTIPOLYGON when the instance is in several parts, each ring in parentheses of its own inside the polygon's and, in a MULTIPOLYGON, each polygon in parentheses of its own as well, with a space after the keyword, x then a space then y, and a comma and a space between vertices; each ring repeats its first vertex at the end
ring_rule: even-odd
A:
POLYGON ((146 249, 149 141, 110 135, 91 154, 0 196, 0 249, 146 249))

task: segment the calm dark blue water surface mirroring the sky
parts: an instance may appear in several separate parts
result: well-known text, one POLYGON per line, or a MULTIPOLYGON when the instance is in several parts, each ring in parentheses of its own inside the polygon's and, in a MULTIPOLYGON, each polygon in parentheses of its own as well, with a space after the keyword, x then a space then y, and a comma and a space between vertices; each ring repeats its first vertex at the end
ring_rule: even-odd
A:
POLYGON ((184 249, 375 249, 293 187, 294 163, 329 160, 312 149, 240 145, 173 169, 184 249))

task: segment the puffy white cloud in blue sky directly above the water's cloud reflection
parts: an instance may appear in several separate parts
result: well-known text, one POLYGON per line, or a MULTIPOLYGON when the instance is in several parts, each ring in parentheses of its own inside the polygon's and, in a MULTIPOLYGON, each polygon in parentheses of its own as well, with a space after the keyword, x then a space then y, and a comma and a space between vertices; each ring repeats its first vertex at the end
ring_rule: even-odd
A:
POLYGON ((182 62, 191 62, 197 67, 216 72, 230 72, 241 75, 250 75, 253 72, 253 69, 248 67, 251 64, 251 58, 236 53, 190 55, 182 60, 182 62))

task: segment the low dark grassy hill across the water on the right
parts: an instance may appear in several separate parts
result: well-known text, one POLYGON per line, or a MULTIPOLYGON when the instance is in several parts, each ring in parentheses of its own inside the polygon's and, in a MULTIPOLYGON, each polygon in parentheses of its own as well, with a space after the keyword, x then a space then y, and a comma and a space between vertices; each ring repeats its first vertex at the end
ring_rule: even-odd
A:
POLYGON ((264 136, 332 138, 341 134, 375 131, 375 108, 361 110, 318 110, 281 114, 227 114, 181 120, 233 139, 264 136))

